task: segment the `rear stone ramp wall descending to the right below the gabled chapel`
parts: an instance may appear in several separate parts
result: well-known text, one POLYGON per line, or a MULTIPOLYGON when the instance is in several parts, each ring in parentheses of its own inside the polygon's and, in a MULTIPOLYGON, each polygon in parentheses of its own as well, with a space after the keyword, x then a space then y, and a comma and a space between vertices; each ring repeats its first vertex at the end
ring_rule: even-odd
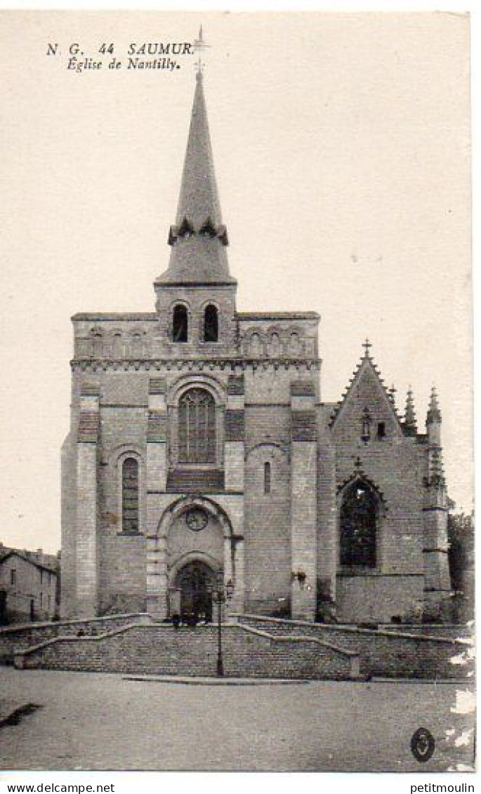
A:
POLYGON ((310 624, 302 621, 240 616, 244 625, 269 634, 294 634, 333 642, 337 647, 360 654, 360 672, 389 678, 463 678, 471 671, 468 663, 455 663, 470 648, 468 640, 409 631, 369 630, 354 626, 310 624))

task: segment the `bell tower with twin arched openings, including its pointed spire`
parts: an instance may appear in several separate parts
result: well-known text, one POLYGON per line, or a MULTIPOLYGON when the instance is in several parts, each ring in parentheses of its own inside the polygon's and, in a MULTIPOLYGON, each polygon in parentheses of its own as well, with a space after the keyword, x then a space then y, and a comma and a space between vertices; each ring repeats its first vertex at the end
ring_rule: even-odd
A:
POLYGON ((227 353, 235 343, 237 281, 229 273, 203 81, 198 64, 169 266, 154 283, 162 342, 175 357, 227 353))

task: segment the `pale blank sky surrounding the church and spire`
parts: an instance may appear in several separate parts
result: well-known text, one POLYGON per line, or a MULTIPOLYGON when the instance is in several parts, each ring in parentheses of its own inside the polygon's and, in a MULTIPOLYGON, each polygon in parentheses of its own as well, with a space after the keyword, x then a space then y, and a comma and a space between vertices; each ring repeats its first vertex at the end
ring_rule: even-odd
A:
POLYGON ((471 511, 468 18, 2 11, 0 541, 60 548, 71 315, 154 309, 194 58, 140 71, 126 53, 200 24, 238 310, 321 314, 325 402, 366 336, 420 431, 436 384, 448 493, 471 511), (71 44, 102 43, 120 70, 67 69, 71 44))

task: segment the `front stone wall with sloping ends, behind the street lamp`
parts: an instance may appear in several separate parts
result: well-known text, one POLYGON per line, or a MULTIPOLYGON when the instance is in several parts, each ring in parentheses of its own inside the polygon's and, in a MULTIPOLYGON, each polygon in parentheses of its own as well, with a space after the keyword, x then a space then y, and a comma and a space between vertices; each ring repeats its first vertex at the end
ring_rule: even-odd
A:
MULTIPOLYGON (((347 680, 356 656, 310 638, 271 638, 243 626, 224 626, 226 676, 347 680)), ((90 638, 57 638, 17 653, 15 665, 171 676, 215 676, 215 626, 173 629, 134 625, 90 638)))

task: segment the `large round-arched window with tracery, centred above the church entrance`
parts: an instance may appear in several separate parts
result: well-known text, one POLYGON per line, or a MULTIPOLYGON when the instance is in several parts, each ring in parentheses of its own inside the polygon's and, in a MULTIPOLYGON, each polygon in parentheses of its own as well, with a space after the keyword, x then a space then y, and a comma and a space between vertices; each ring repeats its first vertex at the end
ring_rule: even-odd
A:
POLYGON ((179 461, 215 463, 215 403, 205 389, 189 389, 179 400, 179 461))

